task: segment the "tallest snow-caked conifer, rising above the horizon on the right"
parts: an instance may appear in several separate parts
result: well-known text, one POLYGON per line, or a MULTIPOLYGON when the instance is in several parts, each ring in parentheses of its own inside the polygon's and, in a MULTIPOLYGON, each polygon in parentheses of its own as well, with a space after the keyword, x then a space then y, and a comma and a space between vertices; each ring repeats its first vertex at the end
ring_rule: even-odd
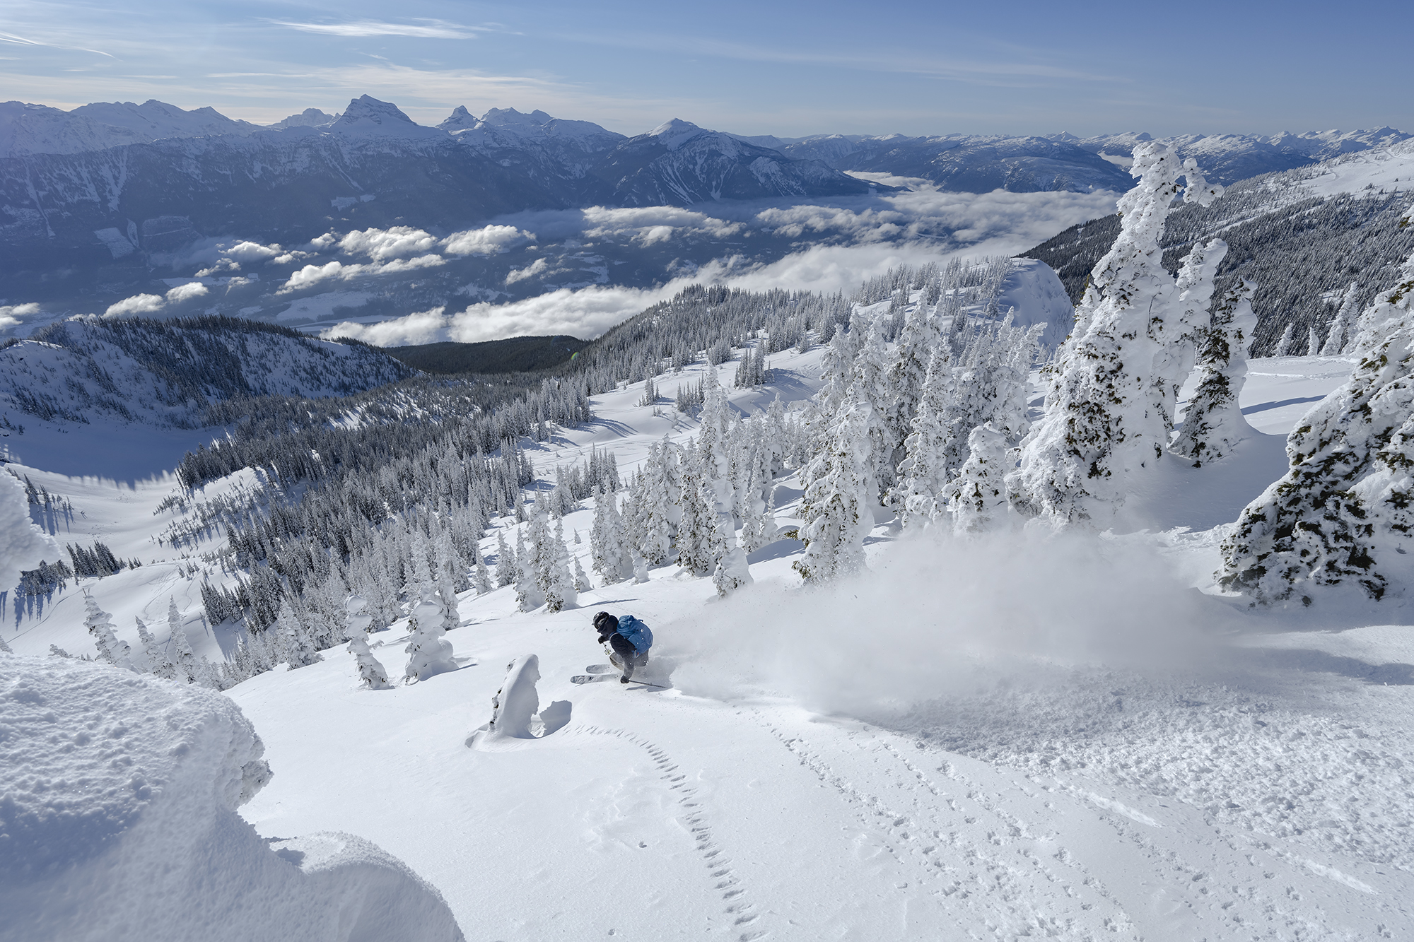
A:
POLYGON ((1134 149, 1130 173, 1138 185, 1120 199, 1120 235, 1090 273, 1052 366, 1045 413, 1008 484, 1018 509, 1053 526, 1106 526, 1130 478, 1158 467, 1168 444, 1171 385, 1155 375, 1155 362, 1169 362, 1168 348, 1184 342, 1184 331, 1159 238, 1179 177, 1188 178, 1186 202, 1209 205, 1222 188, 1159 141, 1134 149))

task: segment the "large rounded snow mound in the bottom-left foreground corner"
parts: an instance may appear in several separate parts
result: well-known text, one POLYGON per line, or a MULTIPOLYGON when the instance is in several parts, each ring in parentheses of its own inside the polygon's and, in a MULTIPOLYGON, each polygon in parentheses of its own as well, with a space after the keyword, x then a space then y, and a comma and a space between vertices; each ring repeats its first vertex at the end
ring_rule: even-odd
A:
POLYGON ((271 849, 236 815, 270 779, 263 752, 222 694, 0 655, 6 936, 462 938, 437 890, 362 839, 271 849))

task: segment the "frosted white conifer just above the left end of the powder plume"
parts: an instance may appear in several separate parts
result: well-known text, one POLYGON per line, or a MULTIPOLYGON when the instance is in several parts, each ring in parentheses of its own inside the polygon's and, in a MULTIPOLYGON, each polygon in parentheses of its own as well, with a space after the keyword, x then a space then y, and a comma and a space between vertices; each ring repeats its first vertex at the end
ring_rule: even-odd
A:
POLYGON ((851 389, 830 441, 806 468, 800 499, 805 556, 793 564, 806 583, 827 583, 864 569, 864 539, 874 526, 874 481, 860 446, 874 421, 868 400, 851 389))

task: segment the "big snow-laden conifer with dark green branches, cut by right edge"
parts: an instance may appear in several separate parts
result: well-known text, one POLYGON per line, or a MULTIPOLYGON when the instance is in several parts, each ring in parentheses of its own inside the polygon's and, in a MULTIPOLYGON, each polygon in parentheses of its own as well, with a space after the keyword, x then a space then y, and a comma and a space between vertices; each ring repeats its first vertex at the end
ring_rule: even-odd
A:
POLYGON ((1287 474, 1223 542, 1220 583, 1257 601, 1410 583, 1414 546, 1414 255, 1360 315, 1350 379, 1287 438, 1287 474))

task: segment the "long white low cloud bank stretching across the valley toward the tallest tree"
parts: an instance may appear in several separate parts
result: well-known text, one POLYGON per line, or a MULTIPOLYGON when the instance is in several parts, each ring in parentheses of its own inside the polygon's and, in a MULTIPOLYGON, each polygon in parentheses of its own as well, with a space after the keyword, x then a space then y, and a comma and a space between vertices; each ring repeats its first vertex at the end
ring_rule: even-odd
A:
MULTIPOLYGON (((721 257, 656 289, 559 289, 506 304, 472 304, 455 313, 438 307, 379 324, 345 321, 322 335, 352 337, 380 347, 475 342, 519 334, 573 334, 590 339, 694 283, 747 290, 853 291, 865 279, 892 266, 923 264, 957 255, 1014 255, 1068 226, 1113 211, 1114 194, 1104 192, 964 194, 921 187, 912 192, 830 205, 762 208, 751 202, 721 204, 711 207, 711 215, 676 207, 522 212, 505 216, 505 225, 454 233, 441 242, 441 250, 462 252, 471 246, 498 246, 499 250, 534 240, 534 233, 546 240, 614 238, 648 246, 689 235, 725 238, 747 228, 786 238, 830 238, 839 243, 809 246, 764 264, 740 256, 721 257)), ((369 229, 351 233, 344 242, 358 235, 349 245, 383 245, 396 232, 369 229)), ((406 245, 420 245, 423 236, 431 238, 420 229, 409 229, 396 238, 406 239, 406 245)), ((438 264, 440 259, 428 255, 407 263, 438 264)), ((291 276, 286 290, 310 287, 321 280, 392 273, 395 269, 390 264, 311 264, 291 276)), ((539 274, 536 266, 543 269, 547 263, 537 260, 527 269, 512 272, 506 281, 539 274)))

